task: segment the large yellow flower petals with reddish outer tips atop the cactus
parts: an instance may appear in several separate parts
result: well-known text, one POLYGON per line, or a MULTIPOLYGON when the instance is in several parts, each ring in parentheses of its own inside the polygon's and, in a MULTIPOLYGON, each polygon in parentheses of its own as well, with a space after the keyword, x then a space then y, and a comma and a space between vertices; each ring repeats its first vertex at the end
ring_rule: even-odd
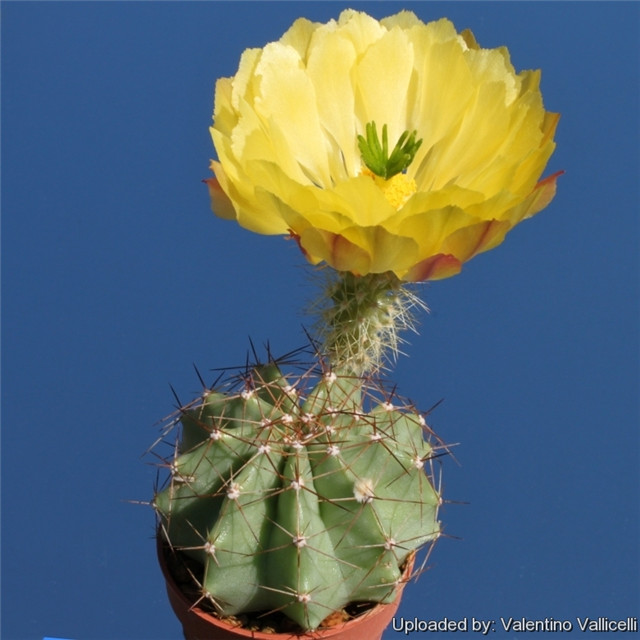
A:
POLYGON ((544 208, 540 180, 559 116, 540 72, 516 73, 505 48, 402 11, 297 20, 248 49, 216 85, 214 211, 263 234, 291 234, 307 259, 355 275, 444 278, 544 208), (358 146, 367 123, 421 144, 388 180, 358 146))

